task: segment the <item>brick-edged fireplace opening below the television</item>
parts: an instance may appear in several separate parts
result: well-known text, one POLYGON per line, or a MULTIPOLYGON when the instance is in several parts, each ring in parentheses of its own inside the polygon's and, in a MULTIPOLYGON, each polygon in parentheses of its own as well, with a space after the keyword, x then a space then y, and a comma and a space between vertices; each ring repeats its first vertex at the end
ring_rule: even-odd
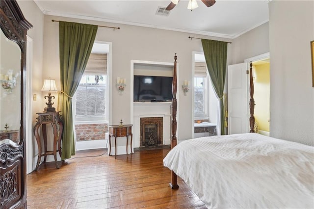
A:
POLYGON ((162 145, 162 117, 140 118, 140 147, 162 145))

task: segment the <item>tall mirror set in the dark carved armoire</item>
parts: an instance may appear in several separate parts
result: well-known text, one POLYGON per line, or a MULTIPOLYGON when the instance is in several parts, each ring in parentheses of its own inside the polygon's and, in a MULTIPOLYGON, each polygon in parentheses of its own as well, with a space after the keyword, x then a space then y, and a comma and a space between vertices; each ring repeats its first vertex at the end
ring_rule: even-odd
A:
POLYGON ((18 145, 21 128, 21 49, 0 32, 0 140, 18 145))

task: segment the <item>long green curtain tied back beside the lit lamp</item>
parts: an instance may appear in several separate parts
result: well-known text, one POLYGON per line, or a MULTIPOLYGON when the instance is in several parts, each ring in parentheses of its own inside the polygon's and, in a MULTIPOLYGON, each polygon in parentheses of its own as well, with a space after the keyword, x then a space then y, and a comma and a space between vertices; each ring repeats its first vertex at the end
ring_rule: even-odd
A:
POLYGON ((62 159, 75 155, 72 97, 84 73, 95 41, 97 26, 59 22, 60 110, 63 119, 62 159))

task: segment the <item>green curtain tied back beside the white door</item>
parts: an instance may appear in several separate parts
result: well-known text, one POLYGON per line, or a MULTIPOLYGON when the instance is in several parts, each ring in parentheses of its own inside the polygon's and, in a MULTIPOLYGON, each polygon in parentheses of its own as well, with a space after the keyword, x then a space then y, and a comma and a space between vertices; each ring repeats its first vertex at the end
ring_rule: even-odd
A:
POLYGON ((202 46, 212 87, 218 98, 217 134, 224 135, 223 94, 227 67, 227 42, 202 39, 202 46))

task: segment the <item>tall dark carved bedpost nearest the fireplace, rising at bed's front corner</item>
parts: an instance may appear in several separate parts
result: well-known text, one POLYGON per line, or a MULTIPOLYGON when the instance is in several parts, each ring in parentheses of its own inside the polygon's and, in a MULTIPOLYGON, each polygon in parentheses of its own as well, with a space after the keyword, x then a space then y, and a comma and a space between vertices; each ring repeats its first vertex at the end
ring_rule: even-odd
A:
MULTIPOLYGON (((171 102, 171 115, 172 115, 172 122, 171 122, 171 149, 177 145, 177 53, 175 53, 175 63, 173 67, 173 78, 172 78, 172 102, 171 102)), ((177 174, 171 171, 171 183, 170 187, 172 189, 179 189, 179 185, 177 184, 177 174)))

